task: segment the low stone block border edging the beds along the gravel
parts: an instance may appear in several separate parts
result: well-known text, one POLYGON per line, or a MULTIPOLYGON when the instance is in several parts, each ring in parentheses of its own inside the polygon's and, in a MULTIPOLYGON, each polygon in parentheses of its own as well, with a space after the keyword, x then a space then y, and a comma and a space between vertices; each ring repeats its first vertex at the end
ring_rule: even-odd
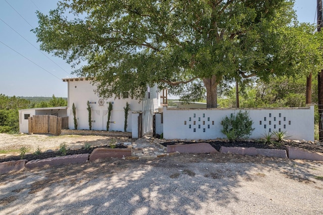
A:
MULTIPOLYGON (((214 153, 217 150, 212 147, 212 150, 205 144, 208 143, 196 143, 185 145, 173 145, 173 147, 167 147, 168 153, 156 155, 153 158, 160 158, 165 156, 177 155, 182 153, 214 153), (189 146, 191 145, 191 146, 189 146), (203 146, 203 147, 202 147, 203 146), (213 151, 213 149, 215 151, 213 151), (176 150, 176 151, 175 151, 176 150)), ((208 144, 209 145, 209 144, 208 144)), ((226 147, 221 146, 221 153, 237 153, 242 155, 263 155, 269 157, 290 158, 290 159, 307 159, 323 161, 323 153, 312 152, 306 149, 290 147, 286 150, 282 149, 263 149, 263 148, 244 148, 244 147, 226 147)), ((139 159, 139 156, 131 156, 131 149, 128 148, 96 148, 89 154, 74 154, 60 157, 50 157, 46 159, 36 159, 28 162, 26 159, 12 160, 9 162, 0 163, 0 173, 9 173, 11 171, 19 171, 26 168, 37 168, 45 165, 59 166, 68 164, 84 164, 89 160, 117 157, 129 160, 139 159)))

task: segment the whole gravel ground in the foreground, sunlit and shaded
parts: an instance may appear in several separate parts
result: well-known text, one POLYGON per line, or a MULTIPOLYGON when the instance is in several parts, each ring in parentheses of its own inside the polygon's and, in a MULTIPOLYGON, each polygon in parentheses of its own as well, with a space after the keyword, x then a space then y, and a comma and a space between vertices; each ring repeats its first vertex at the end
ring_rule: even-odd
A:
POLYGON ((1 214, 323 214, 323 162, 180 154, 0 176, 1 214), (218 159, 221 157, 221 159, 218 159))

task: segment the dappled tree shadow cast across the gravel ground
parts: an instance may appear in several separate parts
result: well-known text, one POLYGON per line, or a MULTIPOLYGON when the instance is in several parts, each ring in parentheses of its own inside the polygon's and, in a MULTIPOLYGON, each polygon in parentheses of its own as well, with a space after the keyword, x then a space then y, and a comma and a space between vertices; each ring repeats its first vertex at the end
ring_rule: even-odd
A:
POLYGON ((214 213, 217 207, 243 202, 236 190, 242 182, 265 178, 264 168, 310 182, 314 176, 309 170, 316 164, 322 163, 216 153, 46 167, 0 176, 0 210, 6 214, 214 213), (258 175, 250 173, 254 168, 258 175))

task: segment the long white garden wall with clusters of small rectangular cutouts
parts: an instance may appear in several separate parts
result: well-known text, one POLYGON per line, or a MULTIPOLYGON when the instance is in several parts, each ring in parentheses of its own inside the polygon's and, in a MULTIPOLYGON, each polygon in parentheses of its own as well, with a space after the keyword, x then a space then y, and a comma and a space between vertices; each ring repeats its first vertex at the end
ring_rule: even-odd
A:
POLYGON ((223 128, 221 121, 226 116, 229 117, 240 110, 247 111, 253 121, 252 127, 255 130, 249 137, 250 139, 261 138, 270 130, 273 132, 281 129, 281 131, 287 131, 286 135, 290 136, 288 139, 314 141, 314 105, 307 108, 216 110, 181 110, 164 107, 164 138, 193 140, 226 138, 221 132, 223 128))

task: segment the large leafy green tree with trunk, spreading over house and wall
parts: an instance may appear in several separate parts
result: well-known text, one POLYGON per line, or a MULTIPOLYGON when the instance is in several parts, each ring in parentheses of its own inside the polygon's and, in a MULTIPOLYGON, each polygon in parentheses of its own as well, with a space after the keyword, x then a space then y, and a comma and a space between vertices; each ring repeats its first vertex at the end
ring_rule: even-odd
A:
POLYGON ((95 77, 103 97, 142 98, 158 83, 190 100, 206 90, 207 107, 216 108, 222 80, 302 72, 293 3, 65 0, 49 15, 37 12, 33 32, 42 50, 72 66, 87 62, 75 73, 95 77))

